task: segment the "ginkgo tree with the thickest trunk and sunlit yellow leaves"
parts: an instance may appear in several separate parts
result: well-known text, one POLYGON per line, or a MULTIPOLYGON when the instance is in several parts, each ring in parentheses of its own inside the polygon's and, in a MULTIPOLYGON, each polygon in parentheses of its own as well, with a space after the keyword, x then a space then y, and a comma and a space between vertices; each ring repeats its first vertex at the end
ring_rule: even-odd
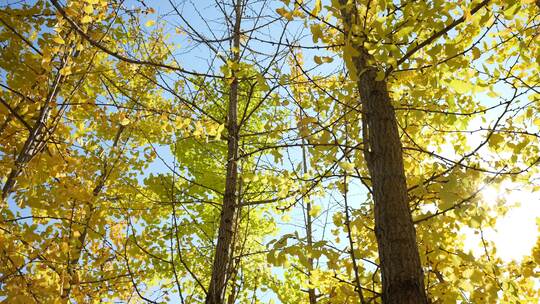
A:
MULTIPOLYGON (((459 242, 451 249, 443 244, 453 238, 452 230, 459 224, 480 233, 493 224, 487 208, 477 206, 485 184, 502 176, 528 181, 535 172, 536 147, 529 146, 531 150, 521 154, 524 158, 506 160, 501 152, 512 149, 520 154, 537 139, 537 126, 516 124, 534 122, 537 5, 533 1, 285 4, 290 8, 280 11, 284 18, 308 20, 313 41, 321 40, 340 54, 349 78, 357 84, 348 98, 358 99, 361 106, 357 151, 362 151, 365 166, 360 166, 367 167, 370 177, 382 301, 494 301, 499 291, 513 284, 511 277, 506 282, 501 278, 501 263, 490 257, 489 246, 483 243, 485 264, 474 265, 459 242), (482 102, 479 95, 485 91, 498 99, 496 104, 482 102), (491 124, 466 129, 476 122, 475 116, 487 120, 490 115, 495 117, 491 124), (478 134, 478 142, 468 143, 467 133, 478 134), (508 145, 502 144, 505 138, 511 138, 508 145), (440 152, 445 141, 455 155, 440 152), (440 258, 448 263, 452 254, 459 257, 452 261, 455 268, 449 267, 452 263, 440 268, 440 258), (472 271, 467 275, 472 283, 449 284, 448 277, 459 281, 452 274, 461 267, 472 271), (492 281, 478 282, 482 276, 492 281), (426 281, 433 280, 426 293, 426 281)), ((322 63, 317 57, 314 61, 322 63)), ((504 213, 504 207, 496 210, 504 213)), ((534 291, 526 288, 521 295, 530 300, 534 291)))

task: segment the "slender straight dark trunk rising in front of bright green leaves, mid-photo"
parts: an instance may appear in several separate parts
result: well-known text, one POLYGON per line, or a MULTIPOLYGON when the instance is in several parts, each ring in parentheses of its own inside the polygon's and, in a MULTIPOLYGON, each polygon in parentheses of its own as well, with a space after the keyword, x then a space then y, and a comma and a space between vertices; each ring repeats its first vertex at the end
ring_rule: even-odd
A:
MULTIPOLYGON (((241 0, 235 3, 235 21, 233 33, 233 61, 240 60, 240 22, 241 22, 241 0)), ((221 220, 219 223, 218 241, 214 254, 214 264, 212 266, 212 277, 206 304, 222 304, 225 301, 227 289, 230 256, 232 250, 232 239, 234 234, 234 219, 236 214, 236 184, 238 179, 238 79, 236 73, 232 73, 232 82, 229 93, 229 109, 227 115, 228 147, 227 147, 227 176, 225 180, 225 195, 221 207, 221 220)))

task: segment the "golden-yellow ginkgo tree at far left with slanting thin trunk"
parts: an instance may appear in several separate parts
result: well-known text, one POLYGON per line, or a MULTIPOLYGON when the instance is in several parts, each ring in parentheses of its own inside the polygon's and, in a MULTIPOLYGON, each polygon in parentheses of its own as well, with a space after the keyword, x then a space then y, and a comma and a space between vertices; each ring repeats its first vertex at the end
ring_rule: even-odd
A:
MULTIPOLYGON (((91 31, 100 39, 120 35, 117 11, 105 2, 75 2, 69 13, 85 32, 88 18, 99 20, 91 31)), ((152 158, 139 157, 146 141, 131 121, 155 119, 137 104, 163 106, 146 78, 128 75, 155 71, 89 48, 50 3, 1 14, 2 296, 15 303, 126 297, 122 200, 152 158)))

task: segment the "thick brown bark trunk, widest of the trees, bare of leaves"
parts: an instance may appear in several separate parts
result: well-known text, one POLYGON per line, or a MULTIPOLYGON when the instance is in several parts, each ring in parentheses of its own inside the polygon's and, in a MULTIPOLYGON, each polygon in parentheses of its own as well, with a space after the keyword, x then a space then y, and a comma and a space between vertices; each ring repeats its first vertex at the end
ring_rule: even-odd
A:
MULTIPOLYGON (((342 5, 347 0, 340 0, 342 5)), ((358 16, 356 7, 342 8, 345 37, 358 16)), ((345 38, 347 39, 347 38, 345 38)), ((351 43, 351 42, 347 42, 351 43)), ((375 204, 375 235, 379 247, 384 304, 424 304, 427 297, 408 206, 407 183, 398 125, 385 80, 378 81, 377 69, 367 62, 362 45, 353 57, 362 103, 364 155, 371 176, 375 204)))

